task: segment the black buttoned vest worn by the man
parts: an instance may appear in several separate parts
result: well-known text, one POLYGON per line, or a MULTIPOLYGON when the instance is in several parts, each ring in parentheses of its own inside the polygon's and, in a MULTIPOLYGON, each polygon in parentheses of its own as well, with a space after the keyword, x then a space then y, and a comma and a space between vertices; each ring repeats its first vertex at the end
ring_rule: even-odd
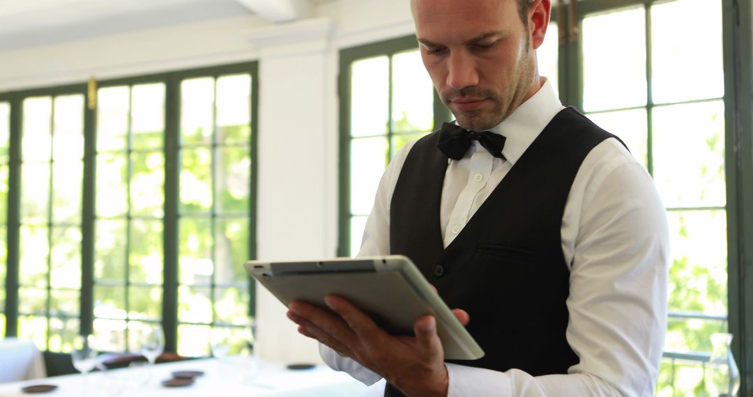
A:
MULTIPOLYGON (((578 356, 565 338, 562 214, 581 162, 614 135, 575 109, 560 111, 446 249, 439 212, 447 157, 437 137, 416 142, 398 177, 390 253, 412 259, 450 308, 470 314, 468 331, 486 355, 458 363, 566 374, 578 356)), ((385 395, 402 393, 388 384, 385 395)))

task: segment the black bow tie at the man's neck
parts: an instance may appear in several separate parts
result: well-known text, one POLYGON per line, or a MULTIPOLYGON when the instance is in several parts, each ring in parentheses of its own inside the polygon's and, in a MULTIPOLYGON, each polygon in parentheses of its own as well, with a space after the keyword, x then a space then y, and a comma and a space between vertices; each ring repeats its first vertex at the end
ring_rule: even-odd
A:
POLYGON ((437 147, 450 159, 459 160, 465 156, 468 147, 471 147, 472 140, 478 141, 492 156, 505 159, 505 156, 502 155, 502 148, 505 147, 504 136, 489 131, 468 131, 450 123, 442 125, 442 129, 439 131, 437 147))

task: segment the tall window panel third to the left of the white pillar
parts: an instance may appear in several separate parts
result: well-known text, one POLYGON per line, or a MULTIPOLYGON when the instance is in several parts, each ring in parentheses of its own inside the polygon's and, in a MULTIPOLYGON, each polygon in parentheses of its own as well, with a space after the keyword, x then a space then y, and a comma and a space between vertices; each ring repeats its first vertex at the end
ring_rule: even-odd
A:
POLYGON ((21 103, 18 332, 59 351, 79 329, 84 95, 21 103))

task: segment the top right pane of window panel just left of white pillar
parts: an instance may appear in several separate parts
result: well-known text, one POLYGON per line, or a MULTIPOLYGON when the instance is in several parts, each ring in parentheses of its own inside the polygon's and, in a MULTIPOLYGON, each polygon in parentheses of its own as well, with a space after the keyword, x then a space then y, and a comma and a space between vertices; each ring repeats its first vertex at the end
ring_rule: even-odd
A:
POLYGON ((251 75, 217 79, 217 141, 248 144, 251 140, 251 75))

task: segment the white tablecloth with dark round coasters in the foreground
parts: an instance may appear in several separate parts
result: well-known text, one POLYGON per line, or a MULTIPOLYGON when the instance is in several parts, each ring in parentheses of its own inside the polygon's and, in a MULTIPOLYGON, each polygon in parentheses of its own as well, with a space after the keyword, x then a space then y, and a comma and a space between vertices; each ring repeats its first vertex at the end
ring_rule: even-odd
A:
MULTIPOLYGON (((348 374, 317 366, 305 370, 289 370, 281 363, 258 363, 251 358, 236 357, 218 361, 197 359, 139 366, 105 372, 48 377, 41 380, 0 384, 3 397, 25 396, 23 386, 53 384, 58 386, 45 395, 81 397, 117 397, 138 395, 150 396, 285 396, 285 397, 361 397, 379 393, 373 387, 364 386, 348 374), (172 377, 173 371, 203 371, 191 386, 166 387, 161 381, 172 377)), ((382 386, 382 389, 383 390, 382 386)))

